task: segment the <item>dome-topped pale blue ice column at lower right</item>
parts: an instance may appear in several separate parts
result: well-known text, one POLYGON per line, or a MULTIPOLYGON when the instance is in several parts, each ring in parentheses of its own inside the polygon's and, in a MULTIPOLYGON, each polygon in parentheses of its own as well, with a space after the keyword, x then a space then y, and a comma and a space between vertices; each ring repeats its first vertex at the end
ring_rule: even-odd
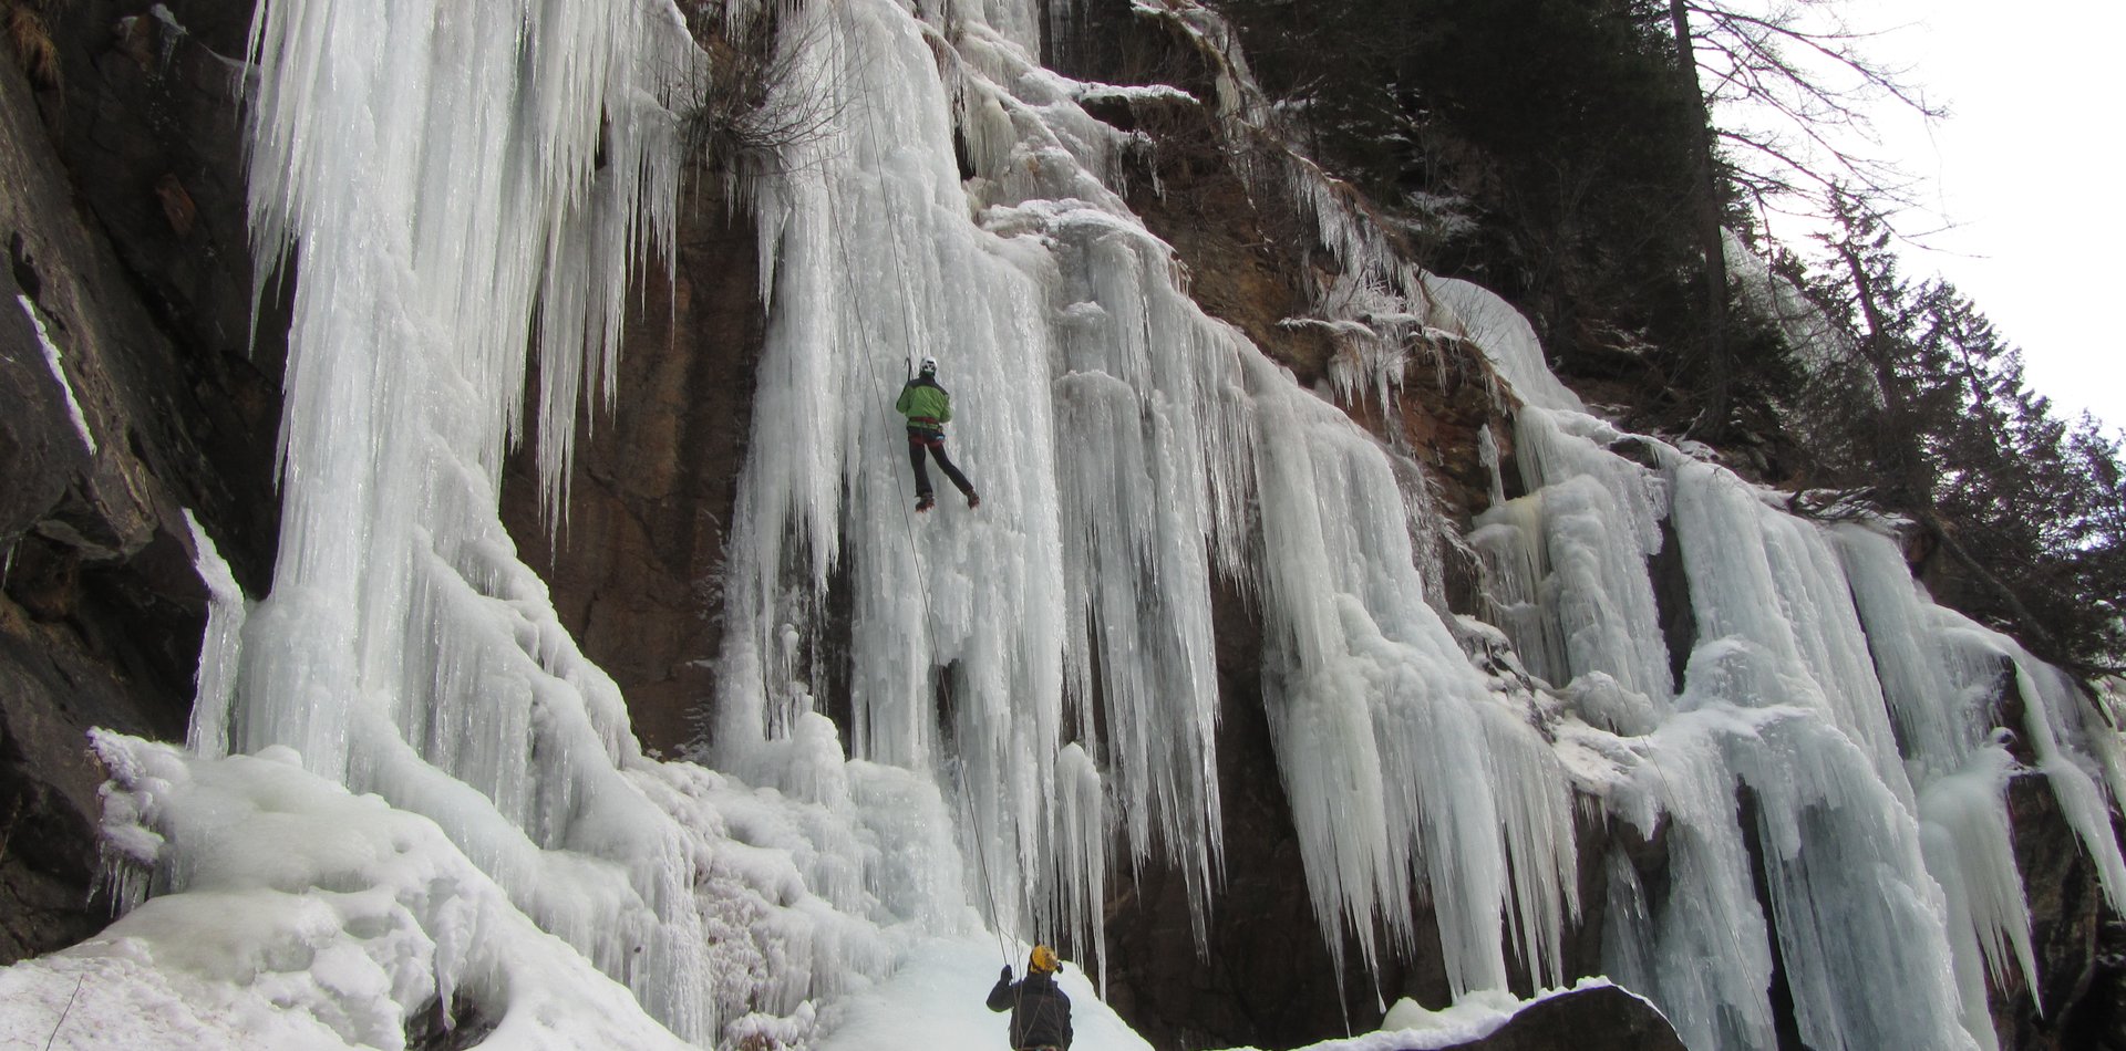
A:
MULTIPOLYGON (((1701 648, 1692 682, 1743 682, 1752 675, 1733 665, 1758 660, 1748 648, 1701 648)), ((1805 709, 1686 701, 1692 709, 1648 741, 1643 796, 1624 807, 1648 834, 1667 822, 1663 904, 1612 862, 1622 883, 1612 888, 1605 966, 1641 983, 1690 1047, 1771 1049, 1777 934, 1809 1047, 1973 1047, 1918 826, 1867 756, 1805 709), (1762 860, 1769 921, 1743 830, 1762 860)))

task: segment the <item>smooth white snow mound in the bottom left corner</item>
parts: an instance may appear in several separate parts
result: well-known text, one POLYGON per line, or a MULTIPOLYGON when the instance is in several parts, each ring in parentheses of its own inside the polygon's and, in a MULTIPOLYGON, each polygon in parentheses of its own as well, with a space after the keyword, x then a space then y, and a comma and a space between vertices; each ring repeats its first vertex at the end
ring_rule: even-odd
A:
POLYGON ((172 894, 0 970, 0 1032, 53 1049, 395 1051, 417 1015, 455 1004, 493 1023, 489 1049, 689 1047, 427 817, 285 747, 202 760, 100 733, 96 752, 108 849, 172 894))

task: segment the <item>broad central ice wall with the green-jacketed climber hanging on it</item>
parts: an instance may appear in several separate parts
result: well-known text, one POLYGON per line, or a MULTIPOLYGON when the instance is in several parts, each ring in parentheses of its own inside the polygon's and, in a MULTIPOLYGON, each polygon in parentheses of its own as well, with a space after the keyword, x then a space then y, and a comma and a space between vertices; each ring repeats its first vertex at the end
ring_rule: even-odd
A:
POLYGON ((1108 834, 1074 798, 1106 803, 1129 864, 1176 864, 1201 921, 1222 851, 1222 575, 1265 620, 1329 943, 1416 951, 1431 894, 1456 989, 1505 987, 1509 941, 1563 977, 1565 773, 1526 699, 1495 692, 1427 605, 1407 465, 1195 308, 1114 189, 1137 140, 1076 102, 1108 89, 1035 66, 1025 11, 982 11, 855 2, 787 28, 816 40, 806 89, 840 119, 755 195, 772 323, 714 762, 772 775, 757 756, 810 703, 789 669, 838 645, 816 609, 840 569, 853 752, 967 794, 1003 930, 1099 949, 1108 834), (891 403, 921 355, 961 406, 980 512, 908 512, 891 403))

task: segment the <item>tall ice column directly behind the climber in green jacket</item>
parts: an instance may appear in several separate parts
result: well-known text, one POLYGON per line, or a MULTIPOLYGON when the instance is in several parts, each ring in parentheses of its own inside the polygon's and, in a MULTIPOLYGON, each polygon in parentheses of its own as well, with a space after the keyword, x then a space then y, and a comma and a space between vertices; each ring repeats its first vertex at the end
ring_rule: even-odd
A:
MULTIPOLYGON (((823 93, 833 117, 755 189, 770 327, 727 561, 714 760, 772 775, 782 726, 799 716, 778 707, 806 696, 778 682, 774 654, 789 641, 810 654, 838 645, 816 611, 846 582, 850 754, 948 786, 969 888, 993 892, 980 900, 995 898, 995 924, 1091 949, 1106 862, 1086 851, 1103 849, 1103 837, 1082 837, 1106 811, 1052 817, 1059 779, 1078 792, 1101 777, 1089 762, 1059 769, 1076 733, 1063 705, 1048 389, 1057 278, 1031 238, 969 223, 946 123, 955 100, 940 79, 946 45, 929 32, 884 2, 787 15, 784 34, 810 40, 793 89, 823 93), (950 488, 929 516, 910 512, 893 401, 925 355, 952 391, 948 448, 978 486, 980 512, 950 488), (1040 873, 1067 879, 1057 888, 1040 873), (1040 913, 1044 921, 1084 926, 1027 930, 1035 888, 1072 902, 1040 913)), ((965 38, 1014 51, 974 19, 965 38)), ((980 70, 963 79, 1016 106, 980 70)), ((1029 117, 1027 127, 1042 125, 1029 117)), ((1074 161, 1057 149, 1052 163, 1074 161)))

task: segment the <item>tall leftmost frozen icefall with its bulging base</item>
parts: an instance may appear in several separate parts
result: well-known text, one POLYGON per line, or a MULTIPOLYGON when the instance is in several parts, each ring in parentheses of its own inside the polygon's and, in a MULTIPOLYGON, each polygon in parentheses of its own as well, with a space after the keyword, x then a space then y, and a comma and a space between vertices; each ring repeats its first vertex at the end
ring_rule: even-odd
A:
MULTIPOLYGON (((480 875, 378 888, 404 924, 470 943, 389 964, 389 989, 364 1000, 376 1017, 349 1028, 327 1017, 342 1000, 274 1002, 391 1047, 449 1004, 466 953, 508 953, 504 932, 536 926, 566 949, 527 951, 625 985, 640 1023, 621 1030, 710 1045, 738 1015, 795 1017, 887 968, 891 924, 963 930, 935 783, 848 764, 816 716, 784 724, 787 794, 646 760, 619 690, 495 512, 502 456, 527 433, 559 505, 574 414, 612 369, 629 268, 672 240, 678 115, 706 74, 680 11, 268 0, 249 47, 259 282, 283 257, 300 270, 281 552, 272 590, 247 601, 198 537, 213 609, 191 743, 202 762, 232 758, 187 777, 272 779, 242 762, 270 754, 381 796, 449 841, 455 860, 434 864, 480 875), (468 909, 485 919, 453 926, 468 909)), ((106 758, 187 769, 138 743, 106 758)), ((259 911, 251 932, 342 955, 374 945, 374 911, 325 904, 387 873, 202 877, 242 830, 208 834, 198 817, 213 807, 187 803, 174 773, 125 786, 138 805, 113 824, 134 845, 115 854, 121 883, 200 913, 296 896, 304 909, 259 911)), ((257 949, 236 941, 170 968, 253 987, 257 949)), ((504 1030, 542 1011, 529 972, 489 979, 480 1009, 504 1030)))

